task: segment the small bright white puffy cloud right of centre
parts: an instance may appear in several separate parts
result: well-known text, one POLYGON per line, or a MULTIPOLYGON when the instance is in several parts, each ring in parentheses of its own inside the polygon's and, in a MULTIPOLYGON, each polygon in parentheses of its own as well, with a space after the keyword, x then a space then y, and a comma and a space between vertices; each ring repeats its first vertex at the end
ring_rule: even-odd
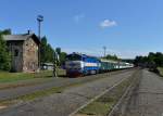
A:
POLYGON ((117 25, 117 23, 115 21, 110 21, 110 20, 104 20, 103 22, 100 23, 100 27, 102 27, 102 28, 113 27, 116 25, 117 25))

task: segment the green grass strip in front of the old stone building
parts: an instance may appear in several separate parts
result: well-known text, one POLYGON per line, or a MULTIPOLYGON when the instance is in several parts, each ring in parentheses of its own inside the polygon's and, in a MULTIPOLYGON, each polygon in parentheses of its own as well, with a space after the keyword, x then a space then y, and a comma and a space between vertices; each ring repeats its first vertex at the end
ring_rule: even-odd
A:
MULTIPOLYGON (((63 69, 59 69, 59 75, 65 75, 63 69)), ((52 70, 41 70, 40 73, 8 73, 0 72, 0 82, 15 82, 20 80, 35 79, 35 78, 50 78, 52 70)))

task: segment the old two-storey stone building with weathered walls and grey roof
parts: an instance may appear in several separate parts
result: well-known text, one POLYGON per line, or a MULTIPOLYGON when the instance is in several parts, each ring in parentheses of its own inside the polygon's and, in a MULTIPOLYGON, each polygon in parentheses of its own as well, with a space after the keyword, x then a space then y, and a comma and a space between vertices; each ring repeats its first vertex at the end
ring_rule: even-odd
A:
POLYGON ((11 52, 12 72, 36 72, 40 41, 35 34, 3 36, 11 52))

